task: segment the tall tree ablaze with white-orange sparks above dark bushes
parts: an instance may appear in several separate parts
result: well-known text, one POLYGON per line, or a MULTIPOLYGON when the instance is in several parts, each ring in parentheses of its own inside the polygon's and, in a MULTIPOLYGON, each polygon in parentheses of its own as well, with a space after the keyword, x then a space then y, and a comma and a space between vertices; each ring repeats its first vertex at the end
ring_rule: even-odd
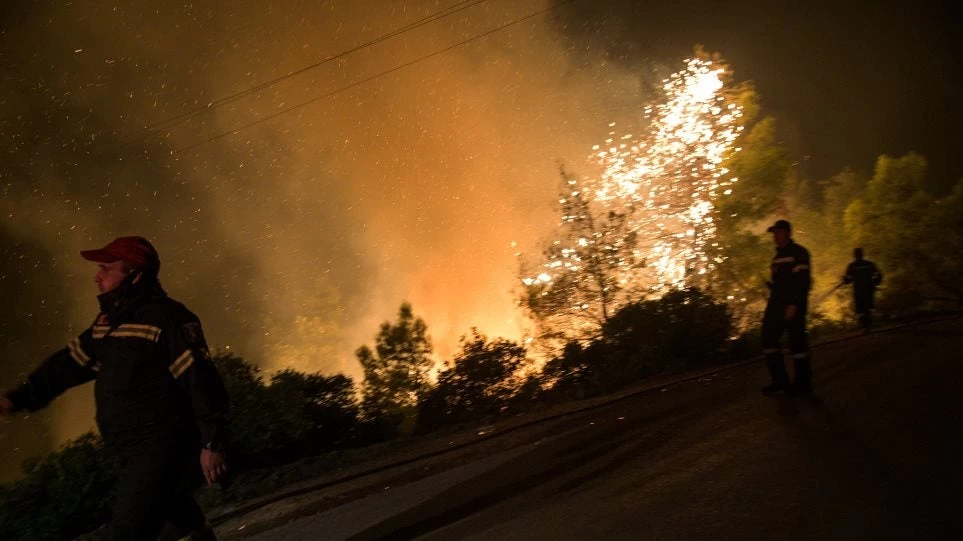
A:
POLYGON ((724 63, 697 51, 644 108, 642 137, 612 131, 593 148, 598 178, 580 186, 563 173, 559 238, 522 269, 540 339, 597 336, 628 302, 704 287, 724 261, 716 201, 739 181, 724 162, 740 150, 752 96, 728 80, 724 63))

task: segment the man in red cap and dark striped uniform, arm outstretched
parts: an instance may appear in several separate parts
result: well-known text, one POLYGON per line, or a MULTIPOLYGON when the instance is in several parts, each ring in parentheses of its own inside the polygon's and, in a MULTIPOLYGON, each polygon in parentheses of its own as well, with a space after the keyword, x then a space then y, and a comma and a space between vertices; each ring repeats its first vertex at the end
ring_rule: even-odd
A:
POLYGON ((94 380, 97 425, 120 466, 110 539, 214 539, 189 480, 198 460, 208 484, 226 474, 227 393, 200 320, 161 288, 146 239, 120 237, 81 255, 99 266, 100 313, 0 397, 0 413, 36 411, 94 380))

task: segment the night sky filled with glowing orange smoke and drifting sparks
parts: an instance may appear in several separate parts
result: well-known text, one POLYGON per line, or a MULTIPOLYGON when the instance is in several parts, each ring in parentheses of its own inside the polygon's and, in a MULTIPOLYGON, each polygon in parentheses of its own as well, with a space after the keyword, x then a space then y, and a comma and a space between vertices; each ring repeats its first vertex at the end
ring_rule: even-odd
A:
MULTIPOLYGON (((909 150, 934 189, 963 176, 949 2, 576 1, 341 90, 553 5, 472 3, 146 136, 458 2, 0 6, 0 386, 90 323, 77 252, 123 234, 214 346, 268 368, 358 376, 404 300, 443 357, 472 326, 518 338, 514 254, 555 224, 559 163, 591 174, 696 43, 756 83, 804 176, 909 150)), ((89 429, 89 396, 0 421, 0 462, 89 429)))

